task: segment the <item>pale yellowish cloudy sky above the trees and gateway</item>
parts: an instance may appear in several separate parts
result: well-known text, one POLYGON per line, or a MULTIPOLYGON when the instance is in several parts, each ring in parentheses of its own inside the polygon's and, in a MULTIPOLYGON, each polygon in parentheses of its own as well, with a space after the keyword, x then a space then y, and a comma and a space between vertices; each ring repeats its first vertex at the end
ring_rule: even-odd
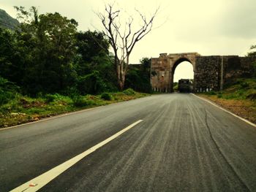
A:
MULTIPOLYGON (((102 0, 0 0, 0 8, 15 17, 13 6, 35 6, 40 13, 59 12, 79 23, 79 30, 102 29, 94 12, 103 12, 102 0)), ((197 52, 200 55, 245 55, 256 45, 255 0, 116 0, 116 7, 135 20, 139 9, 150 15, 160 7, 154 30, 138 42, 131 63, 159 53, 197 52)), ((139 23, 139 22, 138 22, 139 23)), ((179 67, 179 66, 178 66, 179 67)), ((180 65, 181 67, 181 65, 180 65)), ((186 71, 186 64, 181 70, 186 71)), ((190 66, 189 66, 190 67, 190 66)), ((192 68, 191 68, 192 69, 192 68)), ((176 69, 176 72, 178 68, 176 69)))

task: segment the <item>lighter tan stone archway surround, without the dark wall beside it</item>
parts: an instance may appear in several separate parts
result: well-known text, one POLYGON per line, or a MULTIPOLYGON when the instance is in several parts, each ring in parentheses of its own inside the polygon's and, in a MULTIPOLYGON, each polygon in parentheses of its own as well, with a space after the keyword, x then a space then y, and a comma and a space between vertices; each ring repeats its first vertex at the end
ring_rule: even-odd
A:
POLYGON ((173 74, 176 66, 183 61, 189 61, 193 66, 195 76, 195 60, 198 53, 161 53, 159 58, 151 58, 151 85, 154 91, 172 93, 173 74))

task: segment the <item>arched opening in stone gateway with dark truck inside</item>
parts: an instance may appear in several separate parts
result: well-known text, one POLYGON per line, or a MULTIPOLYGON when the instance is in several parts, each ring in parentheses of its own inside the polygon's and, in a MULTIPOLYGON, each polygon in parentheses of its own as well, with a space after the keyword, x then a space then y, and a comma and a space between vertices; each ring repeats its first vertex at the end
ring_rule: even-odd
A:
POLYGON ((179 58, 171 70, 171 92, 192 92, 194 71, 194 66, 188 58, 179 58))

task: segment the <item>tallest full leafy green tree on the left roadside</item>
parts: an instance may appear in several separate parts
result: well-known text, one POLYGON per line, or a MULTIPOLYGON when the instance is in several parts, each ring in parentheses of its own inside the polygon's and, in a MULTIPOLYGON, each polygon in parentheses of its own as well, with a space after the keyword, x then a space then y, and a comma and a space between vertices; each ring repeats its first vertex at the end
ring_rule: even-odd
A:
MULTIPOLYGON (((59 13, 39 15, 39 39, 41 50, 39 55, 42 61, 42 80, 45 85, 52 82, 52 91, 61 91, 73 82, 75 75, 72 61, 76 54, 75 35, 78 23, 68 20, 59 13), (50 61, 50 62, 49 62, 50 61), (50 80, 50 77, 55 77, 50 80)), ((39 61, 38 61, 39 62, 39 61)))

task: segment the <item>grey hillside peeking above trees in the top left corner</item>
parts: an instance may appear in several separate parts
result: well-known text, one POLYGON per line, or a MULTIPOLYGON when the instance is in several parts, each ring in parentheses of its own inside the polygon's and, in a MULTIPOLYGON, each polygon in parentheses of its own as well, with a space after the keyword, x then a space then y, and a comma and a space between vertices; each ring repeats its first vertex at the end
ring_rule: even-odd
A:
POLYGON ((20 23, 18 20, 12 18, 7 12, 3 9, 0 9, 0 28, 10 28, 15 30, 20 23))

